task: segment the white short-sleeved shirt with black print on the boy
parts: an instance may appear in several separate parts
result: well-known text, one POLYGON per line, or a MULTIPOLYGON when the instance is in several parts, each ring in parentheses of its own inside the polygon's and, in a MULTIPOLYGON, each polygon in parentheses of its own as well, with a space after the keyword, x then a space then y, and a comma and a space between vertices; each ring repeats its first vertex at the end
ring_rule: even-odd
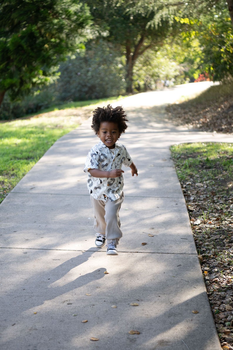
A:
POLYGON ((88 170, 100 169, 103 171, 110 171, 121 169, 122 164, 126 167, 132 164, 132 159, 124 145, 116 143, 114 149, 109 149, 100 140, 97 145, 92 147, 88 153, 84 167, 84 171, 88 173, 87 188, 90 195, 102 201, 106 201, 107 198, 111 201, 117 200, 123 191, 123 174, 115 178, 102 177, 99 179, 90 175, 88 170))

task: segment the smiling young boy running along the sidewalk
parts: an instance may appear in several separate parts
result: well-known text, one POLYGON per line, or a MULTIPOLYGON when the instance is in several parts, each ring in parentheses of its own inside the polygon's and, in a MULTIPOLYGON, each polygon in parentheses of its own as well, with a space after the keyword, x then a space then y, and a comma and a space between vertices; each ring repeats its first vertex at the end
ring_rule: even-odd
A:
POLYGON ((95 245, 102 247, 106 240, 107 255, 118 255, 116 245, 122 237, 119 219, 124 200, 122 164, 131 168, 132 176, 138 176, 125 146, 116 143, 127 128, 124 113, 122 107, 110 105, 93 112, 92 128, 100 141, 88 153, 84 168, 95 216, 95 245))

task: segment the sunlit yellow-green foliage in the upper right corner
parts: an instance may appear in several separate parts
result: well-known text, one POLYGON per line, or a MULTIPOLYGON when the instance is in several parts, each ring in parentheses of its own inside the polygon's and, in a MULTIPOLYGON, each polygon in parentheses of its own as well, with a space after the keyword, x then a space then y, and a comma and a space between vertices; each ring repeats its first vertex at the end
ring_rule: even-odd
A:
POLYGON ((197 79, 200 73, 207 72, 216 81, 232 76, 233 28, 226 3, 203 1, 195 5, 197 8, 191 9, 189 20, 176 16, 179 22, 187 20, 186 31, 182 32, 183 41, 199 43, 193 76, 197 79))

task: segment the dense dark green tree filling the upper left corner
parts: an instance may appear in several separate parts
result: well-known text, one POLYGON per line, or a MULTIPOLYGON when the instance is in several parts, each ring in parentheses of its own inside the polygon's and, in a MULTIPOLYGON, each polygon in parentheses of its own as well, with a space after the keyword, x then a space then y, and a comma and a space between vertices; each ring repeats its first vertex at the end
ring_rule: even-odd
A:
POLYGON ((59 62, 83 47, 91 16, 75 0, 0 3, 0 105, 56 76, 59 62))

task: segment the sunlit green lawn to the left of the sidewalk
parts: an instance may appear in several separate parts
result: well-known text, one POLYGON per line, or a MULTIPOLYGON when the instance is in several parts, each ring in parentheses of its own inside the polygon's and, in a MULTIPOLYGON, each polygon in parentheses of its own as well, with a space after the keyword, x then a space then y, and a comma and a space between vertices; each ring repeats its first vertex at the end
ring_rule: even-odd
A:
POLYGON ((46 116, 45 112, 82 106, 93 110, 96 105, 107 105, 120 98, 73 102, 38 116, 0 123, 0 203, 56 140, 79 126, 78 117, 59 112, 46 116))

